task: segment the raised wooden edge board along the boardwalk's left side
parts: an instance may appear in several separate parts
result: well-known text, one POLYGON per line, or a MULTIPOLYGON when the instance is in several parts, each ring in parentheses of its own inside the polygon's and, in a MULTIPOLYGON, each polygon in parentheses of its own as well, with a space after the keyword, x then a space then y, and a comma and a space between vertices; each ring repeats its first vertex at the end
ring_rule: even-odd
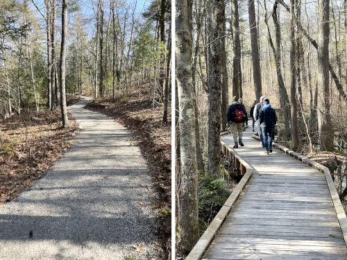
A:
POLYGON ((214 236, 216 236, 217 232, 219 231, 224 221, 230 214, 232 206, 234 206, 237 202, 237 199, 244 190, 244 187, 246 187, 248 180, 251 179, 251 176, 255 171, 255 169, 252 166, 250 166, 246 161, 244 161, 244 159, 242 159, 234 149, 230 148, 223 141, 221 141, 221 151, 227 156, 230 156, 232 154, 232 156, 239 160, 239 163, 242 166, 244 166, 244 168, 246 168, 246 173, 244 174, 244 177, 242 177, 241 181, 237 184, 237 187, 235 187, 234 191, 232 191, 228 200, 226 200, 226 202, 224 203, 223 207, 221 207, 221 209, 218 211, 218 214, 214 217, 214 219, 212 220, 208 228, 205 230, 201 238, 198 240, 196 245, 194 245, 194 248, 188 254, 186 260, 198 260, 203 257, 206 250, 208 250, 210 244, 212 243, 214 236))

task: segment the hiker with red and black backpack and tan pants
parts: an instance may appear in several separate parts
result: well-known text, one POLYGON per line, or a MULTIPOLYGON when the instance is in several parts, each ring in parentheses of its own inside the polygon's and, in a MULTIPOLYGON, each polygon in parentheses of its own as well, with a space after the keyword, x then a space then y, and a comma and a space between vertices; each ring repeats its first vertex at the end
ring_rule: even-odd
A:
POLYGON ((242 132, 244 131, 244 122, 248 121, 248 118, 244 105, 237 102, 236 96, 232 98, 232 104, 228 108, 226 117, 235 142, 232 148, 239 148, 239 145, 244 146, 242 143, 242 132), (237 138, 239 139, 238 141, 237 138))

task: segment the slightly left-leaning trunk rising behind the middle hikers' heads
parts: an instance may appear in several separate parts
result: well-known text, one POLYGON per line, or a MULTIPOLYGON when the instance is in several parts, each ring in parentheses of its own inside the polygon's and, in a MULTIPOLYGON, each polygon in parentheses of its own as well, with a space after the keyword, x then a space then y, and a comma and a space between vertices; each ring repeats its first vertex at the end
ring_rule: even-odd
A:
POLYGON ((255 98, 257 101, 262 96, 262 73, 260 70, 260 55, 257 37, 257 21, 255 21, 254 0, 248 0, 249 27, 251 31, 251 49, 253 64, 253 83, 255 89, 255 98))

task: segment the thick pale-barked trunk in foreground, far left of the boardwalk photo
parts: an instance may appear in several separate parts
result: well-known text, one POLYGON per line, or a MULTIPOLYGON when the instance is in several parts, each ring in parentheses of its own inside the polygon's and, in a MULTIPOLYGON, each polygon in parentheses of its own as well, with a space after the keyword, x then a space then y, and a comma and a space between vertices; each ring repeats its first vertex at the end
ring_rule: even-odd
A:
POLYGON ((198 241, 198 171, 195 144, 195 96, 192 85, 192 6, 176 1, 176 70, 179 106, 180 171, 177 176, 177 248, 188 254, 198 241))

